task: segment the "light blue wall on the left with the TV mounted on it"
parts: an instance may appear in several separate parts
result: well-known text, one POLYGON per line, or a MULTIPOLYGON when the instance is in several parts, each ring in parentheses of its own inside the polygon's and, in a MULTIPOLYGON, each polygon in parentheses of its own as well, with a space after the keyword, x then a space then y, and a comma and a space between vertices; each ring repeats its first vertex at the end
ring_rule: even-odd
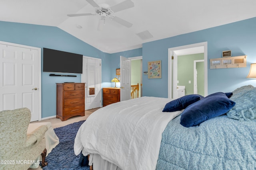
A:
MULTIPOLYGON (((100 58, 102 82, 110 82, 110 54, 103 53, 58 27, 0 21, 0 41, 100 58)), ((42 71, 42 118, 56 115, 56 83, 81 82, 81 74, 72 74, 77 77, 55 77, 49 76, 50 73, 42 71)))

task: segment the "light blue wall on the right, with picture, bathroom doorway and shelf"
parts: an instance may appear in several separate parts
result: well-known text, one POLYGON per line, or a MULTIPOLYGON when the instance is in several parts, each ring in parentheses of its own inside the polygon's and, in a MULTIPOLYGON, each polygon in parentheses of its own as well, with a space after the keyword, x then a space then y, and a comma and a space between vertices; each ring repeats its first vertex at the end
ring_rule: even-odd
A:
POLYGON ((142 46, 142 71, 147 71, 148 61, 162 61, 162 78, 148 79, 142 76, 143 96, 168 98, 168 48, 208 42, 208 94, 232 92, 236 88, 252 84, 256 80, 246 78, 250 64, 256 63, 256 18, 238 21, 218 27, 178 35, 142 46), (210 60, 221 58, 222 51, 231 50, 232 56, 247 55, 247 67, 210 69, 210 60))

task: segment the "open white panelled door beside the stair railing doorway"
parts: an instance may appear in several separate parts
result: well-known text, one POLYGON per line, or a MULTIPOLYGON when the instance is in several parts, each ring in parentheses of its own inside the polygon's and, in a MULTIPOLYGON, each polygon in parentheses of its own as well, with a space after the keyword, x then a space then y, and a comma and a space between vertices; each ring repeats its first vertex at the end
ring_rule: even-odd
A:
POLYGON ((120 101, 131 99, 131 60, 120 56, 120 101))

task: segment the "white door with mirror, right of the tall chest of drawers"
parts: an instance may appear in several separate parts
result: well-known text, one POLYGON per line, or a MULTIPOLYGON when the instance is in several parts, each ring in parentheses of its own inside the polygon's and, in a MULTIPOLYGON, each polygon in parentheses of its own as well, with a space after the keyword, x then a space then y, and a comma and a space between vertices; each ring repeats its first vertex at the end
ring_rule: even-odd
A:
POLYGON ((82 82, 85 84, 85 109, 101 107, 101 59, 83 57, 82 82))

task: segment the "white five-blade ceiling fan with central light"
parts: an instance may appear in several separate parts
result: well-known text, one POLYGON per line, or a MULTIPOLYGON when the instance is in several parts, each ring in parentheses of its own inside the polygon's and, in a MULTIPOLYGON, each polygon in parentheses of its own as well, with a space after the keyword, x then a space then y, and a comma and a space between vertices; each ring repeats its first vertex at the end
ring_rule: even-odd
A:
POLYGON ((95 13, 86 13, 86 14, 68 14, 69 17, 76 16, 94 16, 99 15, 100 20, 98 24, 98 30, 102 29, 102 25, 105 25, 105 18, 108 16, 111 20, 116 21, 117 23, 124 25, 125 27, 131 27, 132 23, 123 20, 114 15, 115 12, 119 12, 122 10, 126 10, 128 8, 134 7, 134 3, 131 0, 125 0, 119 4, 116 4, 110 7, 108 4, 100 4, 98 5, 94 0, 86 0, 89 4, 91 4, 95 8, 95 13))

